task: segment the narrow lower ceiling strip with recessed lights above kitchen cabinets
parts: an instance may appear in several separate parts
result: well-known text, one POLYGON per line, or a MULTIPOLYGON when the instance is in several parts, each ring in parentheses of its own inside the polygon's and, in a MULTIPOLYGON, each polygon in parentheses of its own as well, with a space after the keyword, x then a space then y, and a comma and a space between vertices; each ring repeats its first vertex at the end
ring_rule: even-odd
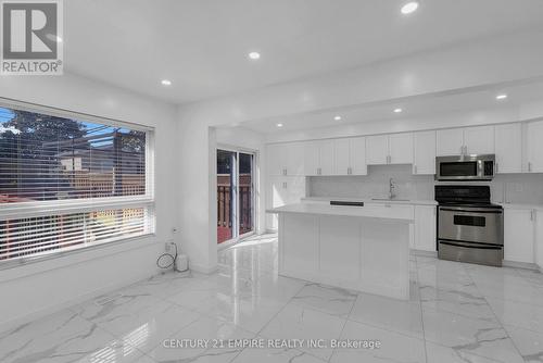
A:
POLYGON ((414 120, 472 110, 500 110, 534 101, 541 102, 541 95, 543 95, 543 82, 534 80, 509 86, 489 86, 484 89, 463 90, 458 93, 433 93, 318 113, 255 120, 238 126, 262 134, 275 134, 375 121, 414 120), (507 99, 496 100, 495 97, 503 93, 507 95, 507 99), (394 113, 396 108, 401 108, 402 112, 394 113), (336 121, 333 118, 336 115, 340 115, 341 121, 336 121), (283 126, 278 128, 278 123, 283 126))

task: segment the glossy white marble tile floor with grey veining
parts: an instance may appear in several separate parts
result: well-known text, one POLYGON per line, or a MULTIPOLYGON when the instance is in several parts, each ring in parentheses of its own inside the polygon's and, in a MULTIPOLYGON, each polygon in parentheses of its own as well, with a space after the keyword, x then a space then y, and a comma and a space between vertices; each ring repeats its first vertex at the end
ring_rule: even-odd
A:
POLYGON ((543 362, 536 272, 412 256, 412 297, 399 301, 278 276, 275 235, 218 262, 0 333, 0 362, 543 362))

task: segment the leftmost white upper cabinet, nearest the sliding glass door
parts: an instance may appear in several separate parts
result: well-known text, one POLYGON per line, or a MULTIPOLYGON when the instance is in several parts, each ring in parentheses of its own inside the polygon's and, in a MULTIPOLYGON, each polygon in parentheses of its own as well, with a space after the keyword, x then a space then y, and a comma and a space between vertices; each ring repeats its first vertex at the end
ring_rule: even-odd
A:
POLYGON ((295 176, 304 174, 302 142, 270 143, 266 149, 268 175, 295 176))

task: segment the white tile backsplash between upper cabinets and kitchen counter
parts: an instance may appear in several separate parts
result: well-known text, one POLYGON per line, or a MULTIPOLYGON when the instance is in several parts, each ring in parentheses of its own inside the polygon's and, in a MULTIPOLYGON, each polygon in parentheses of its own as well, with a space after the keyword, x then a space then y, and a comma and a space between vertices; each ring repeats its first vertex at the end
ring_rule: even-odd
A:
MULTIPOLYGON (((433 175, 413 175, 411 165, 371 165, 368 175, 312 176, 307 178, 310 197, 384 198, 389 192, 389 179, 395 184, 400 199, 433 200, 433 175)), ((497 175, 490 185, 495 202, 543 204, 543 174, 497 175)))

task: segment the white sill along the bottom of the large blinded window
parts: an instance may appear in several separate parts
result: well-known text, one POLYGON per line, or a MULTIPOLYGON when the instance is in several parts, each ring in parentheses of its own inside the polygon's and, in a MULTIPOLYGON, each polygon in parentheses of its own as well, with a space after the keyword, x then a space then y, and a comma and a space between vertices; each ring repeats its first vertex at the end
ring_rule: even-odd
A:
POLYGON ((137 237, 121 239, 114 242, 87 246, 62 252, 53 252, 42 256, 3 261, 0 262, 0 283, 56 268, 63 268, 86 261, 108 258, 114 254, 134 251, 153 245, 156 245, 156 235, 146 234, 137 237))

